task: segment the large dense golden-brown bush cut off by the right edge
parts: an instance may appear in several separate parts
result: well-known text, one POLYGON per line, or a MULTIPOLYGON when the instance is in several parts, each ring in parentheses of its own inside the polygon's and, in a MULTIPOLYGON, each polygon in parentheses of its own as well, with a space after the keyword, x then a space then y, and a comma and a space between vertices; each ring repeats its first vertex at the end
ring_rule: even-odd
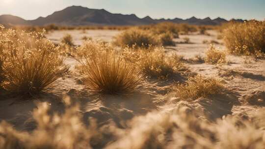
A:
POLYGON ((265 53, 265 21, 233 23, 223 31, 224 43, 233 54, 256 55, 265 53))

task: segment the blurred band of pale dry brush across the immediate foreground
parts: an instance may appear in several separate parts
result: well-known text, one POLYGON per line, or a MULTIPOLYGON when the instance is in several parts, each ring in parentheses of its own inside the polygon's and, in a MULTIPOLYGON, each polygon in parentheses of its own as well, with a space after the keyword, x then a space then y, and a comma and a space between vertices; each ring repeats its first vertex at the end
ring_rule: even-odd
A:
MULTIPOLYGON (((182 102, 183 104, 186 104, 182 102)), ((86 126, 78 106, 50 115, 49 104, 34 109, 32 132, 0 123, 0 149, 263 149, 263 109, 248 118, 230 115, 210 123, 191 106, 174 105, 166 112, 136 116, 124 128, 115 124, 86 126)), ((256 111, 256 110, 255 110, 256 111)))

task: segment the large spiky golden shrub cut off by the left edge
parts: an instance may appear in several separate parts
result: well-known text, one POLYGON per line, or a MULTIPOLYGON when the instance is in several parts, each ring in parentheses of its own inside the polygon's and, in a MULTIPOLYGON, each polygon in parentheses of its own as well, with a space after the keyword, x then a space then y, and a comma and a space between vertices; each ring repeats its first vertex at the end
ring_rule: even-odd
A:
POLYGON ((48 91, 58 78, 63 57, 41 33, 0 30, 2 62, 0 84, 13 94, 33 95, 48 91))

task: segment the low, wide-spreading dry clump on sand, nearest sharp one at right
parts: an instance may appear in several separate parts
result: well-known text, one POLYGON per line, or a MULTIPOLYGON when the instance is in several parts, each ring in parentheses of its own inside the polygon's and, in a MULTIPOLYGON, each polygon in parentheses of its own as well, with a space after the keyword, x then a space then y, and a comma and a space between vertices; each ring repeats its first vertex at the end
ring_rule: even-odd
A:
POLYGON ((186 84, 176 87, 178 97, 182 99, 197 99, 216 95, 224 89, 223 84, 214 78, 204 78, 201 75, 189 77, 186 84))

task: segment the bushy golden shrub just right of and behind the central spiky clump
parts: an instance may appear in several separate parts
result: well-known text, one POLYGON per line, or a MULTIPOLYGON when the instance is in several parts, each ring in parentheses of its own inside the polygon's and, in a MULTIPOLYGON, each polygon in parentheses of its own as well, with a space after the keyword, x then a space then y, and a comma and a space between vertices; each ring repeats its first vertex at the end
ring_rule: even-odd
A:
POLYGON ((177 56, 168 57, 162 48, 139 50, 138 66, 143 74, 151 78, 165 79, 183 67, 177 56))

